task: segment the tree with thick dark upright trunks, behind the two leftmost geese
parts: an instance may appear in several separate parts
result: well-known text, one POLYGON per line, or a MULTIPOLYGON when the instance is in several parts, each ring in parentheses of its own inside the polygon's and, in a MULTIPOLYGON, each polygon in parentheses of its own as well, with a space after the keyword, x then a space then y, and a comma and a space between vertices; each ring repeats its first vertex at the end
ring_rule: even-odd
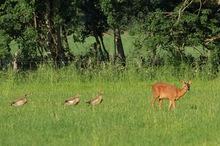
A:
POLYGON ((74 4, 71 0, 38 0, 35 3, 39 52, 43 54, 46 51, 47 58, 56 66, 67 65, 72 57, 67 41, 67 26, 73 22, 72 17, 76 15, 74 4))

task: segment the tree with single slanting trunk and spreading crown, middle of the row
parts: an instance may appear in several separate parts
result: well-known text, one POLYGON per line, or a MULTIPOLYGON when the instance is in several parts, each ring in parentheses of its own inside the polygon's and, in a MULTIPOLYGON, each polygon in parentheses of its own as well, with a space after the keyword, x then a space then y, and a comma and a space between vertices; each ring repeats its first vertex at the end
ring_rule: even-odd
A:
POLYGON ((146 6, 146 1, 143 0, 100 0, 101 8, 108 18, 108 24, 114 31, 114 60, 118 56, 123 66, 126 66, 126 56, 121 39, 121 31, 124 30, 128 24, 132 24, 132 18, 137 17, 146 6), (132 6, 132 7, 131 7, 132 6), (118 55, 116 55, 118 53, 118 55))

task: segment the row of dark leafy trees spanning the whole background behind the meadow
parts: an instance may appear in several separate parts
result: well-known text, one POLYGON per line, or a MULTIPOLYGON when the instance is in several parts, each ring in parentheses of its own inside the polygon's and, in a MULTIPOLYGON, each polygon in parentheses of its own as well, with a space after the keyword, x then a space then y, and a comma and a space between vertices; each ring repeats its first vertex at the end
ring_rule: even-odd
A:
POLYGON ((132 57, 141 58, 143 64, 192 63, 194 58, 185 52, 185 48, 191 47, 199 52, 199 61, 210 63, 218 71, 218 0, 1 1, 0 67, 14 60, 11 43, 18 45, 16 62, 20 68, 36 68, 45 62, 55 67, 67 66, 76 57, 67 36, 73 36, 75 42, 84 42, 89 36, 95 38, 94 64, 112 61, 126 66, 124 49, 129 48, 123 46, 122 31, 138 36, 132 57), (108 30, 114 32, 113 58, 103 40, 103 33, 108 30), (166 55, 161 55, 161 50, 166 55))

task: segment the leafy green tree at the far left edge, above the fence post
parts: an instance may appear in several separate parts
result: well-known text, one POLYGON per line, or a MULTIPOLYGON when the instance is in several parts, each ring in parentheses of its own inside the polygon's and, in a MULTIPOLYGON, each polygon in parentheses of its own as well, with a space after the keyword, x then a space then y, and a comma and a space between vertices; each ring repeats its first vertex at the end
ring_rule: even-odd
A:
POLYGON ((24 66, 34 67, 36 61, 36 31, 33 27, 32 1, 25 0, 7 0, 2 1, 0 7, 0 26, 4 30, 2 37, 7 38, 4 41, 4 48, 10 50, 9 44, 14 40, 18 44, 21 52, 21 59, 24 66))

